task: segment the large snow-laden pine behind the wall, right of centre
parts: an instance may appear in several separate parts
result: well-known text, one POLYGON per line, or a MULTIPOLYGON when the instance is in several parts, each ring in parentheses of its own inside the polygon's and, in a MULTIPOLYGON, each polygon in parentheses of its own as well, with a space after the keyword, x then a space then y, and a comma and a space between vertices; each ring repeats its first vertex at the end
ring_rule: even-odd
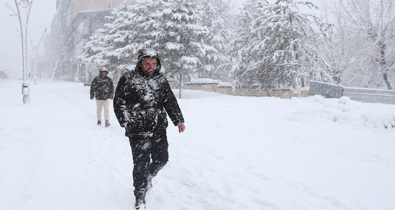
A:
POLYGON ((317 52, 329 25, 302 13, 310 2, 247 0, 241 11, 239 38, 233 41, 238 83, 261 87, 304 87, 309 79, 328 81, 329 66, 317 52), (313 26, 315 27, 313 29, 313 26))

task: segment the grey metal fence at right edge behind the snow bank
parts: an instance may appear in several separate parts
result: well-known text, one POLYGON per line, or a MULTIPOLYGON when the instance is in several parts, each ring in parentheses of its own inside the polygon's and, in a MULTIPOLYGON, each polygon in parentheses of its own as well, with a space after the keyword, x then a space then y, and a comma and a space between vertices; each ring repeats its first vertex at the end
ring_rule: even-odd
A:
POLYGON ((395 91, 392 90, 342 87, 316 81, 310 81, 309 95, 322 95, 327 98, 348 96, 351 100, 359 102, 395 104, 395 91))

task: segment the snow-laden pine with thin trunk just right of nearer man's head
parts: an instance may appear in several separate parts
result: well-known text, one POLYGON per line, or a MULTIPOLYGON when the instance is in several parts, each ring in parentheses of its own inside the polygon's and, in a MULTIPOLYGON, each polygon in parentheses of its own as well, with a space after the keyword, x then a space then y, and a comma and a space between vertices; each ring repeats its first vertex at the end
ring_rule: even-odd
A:
POLYGON ((179 81, 182 88, 183 79, 198 77, 201 59, 206 49, 211 49, 204 42, 210 30, 201 25, 201 11, 193 0, 168 2, 171 5, 163 10, 162 33, 155 37, 160 44, 158 50, 162 51, 167 76, 179 81))

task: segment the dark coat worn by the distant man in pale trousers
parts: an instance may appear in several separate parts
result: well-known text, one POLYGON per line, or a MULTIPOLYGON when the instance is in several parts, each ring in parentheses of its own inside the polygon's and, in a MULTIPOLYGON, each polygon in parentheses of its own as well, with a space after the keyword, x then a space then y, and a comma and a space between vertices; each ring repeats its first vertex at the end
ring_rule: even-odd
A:
POLYGON ((107 76, 98 76, 90 85, 90 99, 107 100, 114 98, 114 83, 107 76))

